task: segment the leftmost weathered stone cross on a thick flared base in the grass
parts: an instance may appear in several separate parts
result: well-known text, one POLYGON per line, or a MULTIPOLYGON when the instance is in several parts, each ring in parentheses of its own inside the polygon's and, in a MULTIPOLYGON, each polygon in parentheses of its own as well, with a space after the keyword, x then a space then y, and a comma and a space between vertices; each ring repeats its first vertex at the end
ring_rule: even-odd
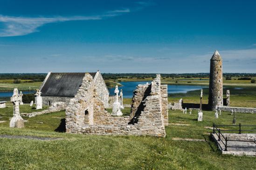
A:
POLYGON ((21 97, 19 96, 18 89, 14 89, 14 94, 11 97, 11 102, 14 104, 14 117, 10 121, 10 127, 11 128, 23 128, 24 127, 24 120, 20 115, 20 102, 21 97))

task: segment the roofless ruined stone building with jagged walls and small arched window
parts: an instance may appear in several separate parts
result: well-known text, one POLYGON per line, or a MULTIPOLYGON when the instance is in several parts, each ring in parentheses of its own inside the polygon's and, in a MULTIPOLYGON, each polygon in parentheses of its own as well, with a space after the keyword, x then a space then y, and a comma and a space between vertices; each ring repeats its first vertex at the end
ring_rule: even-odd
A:
POLYGON ((67 133, 97 135, 148 135, 165 137, 167 125, 167 87, 157 75, 151 85, 138 85, 134 92, 131 115, 111 116, 95 90, 89 74, 83 78, 75 98, 66 109, 67 133), (163 94, 162 94, 163 93, 163 94))

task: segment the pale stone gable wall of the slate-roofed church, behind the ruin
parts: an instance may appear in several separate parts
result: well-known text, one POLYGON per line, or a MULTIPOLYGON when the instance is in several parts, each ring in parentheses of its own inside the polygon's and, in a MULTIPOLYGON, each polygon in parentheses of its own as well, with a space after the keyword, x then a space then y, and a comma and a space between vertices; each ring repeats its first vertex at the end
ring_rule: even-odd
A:
POLYGON ((99 98, 103 101, 104 107, 108 108, 109 107, 109 91, 105 85, 104 79, 100 75, 99 72, 96 74, 96 79, 95 79, 95 88, 97 91, 97 94, 99 98))

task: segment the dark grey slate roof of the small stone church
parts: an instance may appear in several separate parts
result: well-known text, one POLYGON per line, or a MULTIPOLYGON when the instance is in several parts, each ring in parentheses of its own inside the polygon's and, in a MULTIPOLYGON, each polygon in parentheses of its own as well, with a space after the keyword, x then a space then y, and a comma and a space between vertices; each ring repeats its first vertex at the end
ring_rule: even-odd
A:
MULTIPOLYGON (((92 78, 96 72, 89 72, 92 78)), ((41 96, 74 97, 85 72, 51 72, 41 89, 41 96)))

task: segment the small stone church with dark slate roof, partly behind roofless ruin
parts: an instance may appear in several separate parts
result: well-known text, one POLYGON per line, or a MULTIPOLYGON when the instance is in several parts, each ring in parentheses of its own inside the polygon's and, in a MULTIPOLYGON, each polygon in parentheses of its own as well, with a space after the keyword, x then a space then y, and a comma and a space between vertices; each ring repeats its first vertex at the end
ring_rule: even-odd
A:
MULTIPOLYGON (((95 85, 95 90, 104 107, 108 107, 109 91, 99 71, 89 73, 95 85)), ((40 91, 43 105, 52 105, 55 102, 69 103, 74 98, 80 86, 84 83, 85 72, 48 72, 40 91)))

